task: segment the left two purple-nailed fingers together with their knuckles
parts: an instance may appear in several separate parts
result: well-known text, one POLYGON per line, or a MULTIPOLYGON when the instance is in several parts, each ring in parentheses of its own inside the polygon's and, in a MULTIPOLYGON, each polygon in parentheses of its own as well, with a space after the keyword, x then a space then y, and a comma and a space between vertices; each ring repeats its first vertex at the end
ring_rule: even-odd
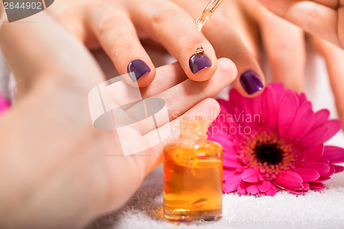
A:
POLYGON ((103 47, 117 71, 133 72, 131 80, 139 87, 156 74, 142 38, 162 44, 191 80, 208 80, 216 71, 212 45, 198 32, 195 19, 171 1, 60 0, 48 12, 87 47, 103 47), (198 45, 205 55, 194 55, 198 45))

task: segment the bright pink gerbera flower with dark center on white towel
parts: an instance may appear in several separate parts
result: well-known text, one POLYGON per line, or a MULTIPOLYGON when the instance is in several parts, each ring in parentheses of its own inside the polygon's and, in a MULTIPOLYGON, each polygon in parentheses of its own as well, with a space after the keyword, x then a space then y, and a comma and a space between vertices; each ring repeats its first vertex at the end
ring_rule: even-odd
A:
POLYGON ((270 195, 325 188, 323 182, 344 170, 344 149, 324 146, 341 129, 326 109, 314 113, 305 94, 278 83, 257 98, 231 89, 219 99, 221 113, 209 140, 224 146, 224 193, 270 195))

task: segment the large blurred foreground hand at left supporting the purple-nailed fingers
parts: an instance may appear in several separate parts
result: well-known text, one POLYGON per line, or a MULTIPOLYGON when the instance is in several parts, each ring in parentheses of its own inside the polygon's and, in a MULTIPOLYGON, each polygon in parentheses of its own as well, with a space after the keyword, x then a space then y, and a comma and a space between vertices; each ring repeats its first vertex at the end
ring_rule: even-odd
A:
MULTIPOLYGON (((114 18, 108 19, 100 24, 111 25, 114 18)), ((89 91, 105 80, 103 72, 82 43, 47 14, 28 20, 3 20, 0 26, 1 51, 18 84, 16 104, 0 117, 0 228, 80 228, 124 204, 162 162, 164 144, 177 136, 173 132, 163 144, 142 152, 146 157, 106 156, 122 150, 118 135, 92 126, 87 102, 89 91)), ((94 20, 89 23, 97 25, 94 20)), ((118 26, 120 30, 120 22, 118 26)), ((108 38, 116 40, 108 32, 108 38)), ((100 41, 110 45, 101 34, 100 41)), ((207 46, 202 36, 200 41, 207 46)), ((125 49, 128 56, 144 58, 140 44, 134 46, 142 56, 125 49)), ((207 48, 212 52, 211 45, 207 48)), ((191 46, 190 53, 188 49, 183 53, 191 55, 191 46)), ((154 82, 142 96, 166 102, 172 127, 184 116, 203 115, 212 122, 219 105, 208 97, 234 80, 235 65, 219 59, 217 71, 204 82, 189 79, 184 67, 175 63, 156 69, 154 82)), ((140 135, 152 130, 132 131, 140 142, 140 135)))

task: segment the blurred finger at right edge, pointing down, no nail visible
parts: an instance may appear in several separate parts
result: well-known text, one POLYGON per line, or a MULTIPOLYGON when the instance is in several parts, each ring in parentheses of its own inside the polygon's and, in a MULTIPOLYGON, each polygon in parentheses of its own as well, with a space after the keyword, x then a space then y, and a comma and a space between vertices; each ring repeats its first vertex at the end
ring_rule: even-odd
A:
POLYGON ((312 36, 311 41, 325 58, 338 116, 341 119, 341 122, 344 123, 344 51, 335 45, 314 36, 312 36))

